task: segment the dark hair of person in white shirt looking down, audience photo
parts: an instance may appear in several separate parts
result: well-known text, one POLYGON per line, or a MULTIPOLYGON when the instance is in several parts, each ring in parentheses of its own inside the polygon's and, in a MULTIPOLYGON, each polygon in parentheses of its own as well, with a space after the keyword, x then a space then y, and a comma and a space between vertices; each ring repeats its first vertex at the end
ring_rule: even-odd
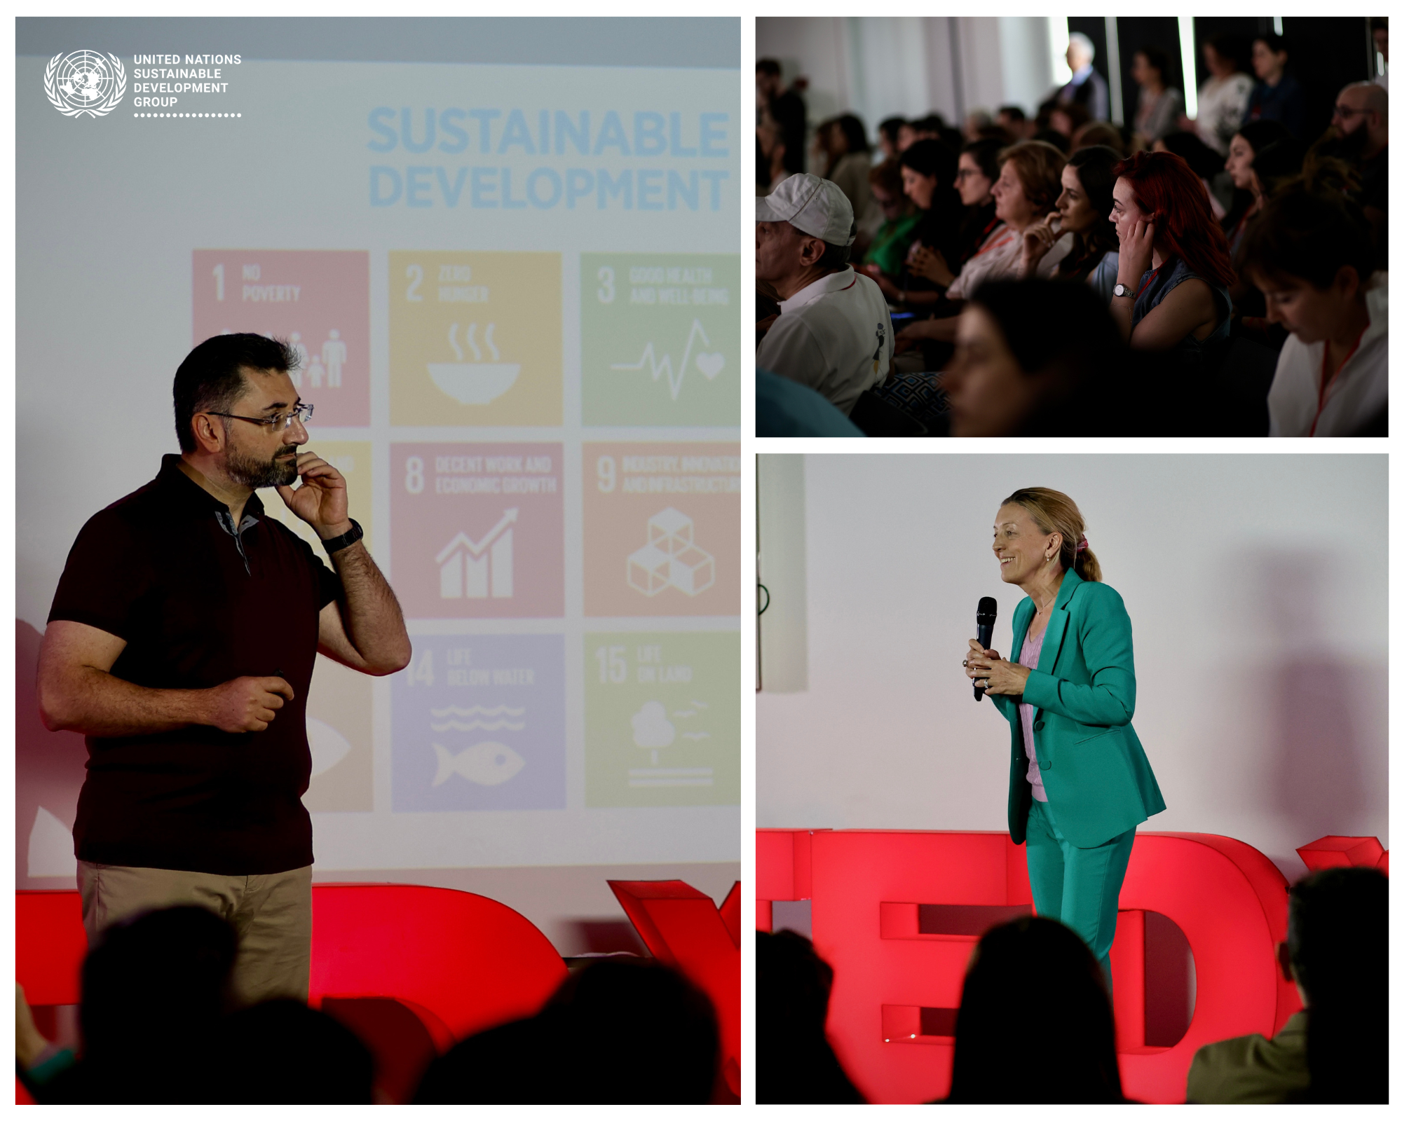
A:
POLYGON ((1246 227, 1241 261, 1260 277, 1295 276, 1323 291, 1345 265, 1353 265, 1366 282, 1377 268, 1377 251, 1357 203, 1297 186, 1267 202, 1246 227))

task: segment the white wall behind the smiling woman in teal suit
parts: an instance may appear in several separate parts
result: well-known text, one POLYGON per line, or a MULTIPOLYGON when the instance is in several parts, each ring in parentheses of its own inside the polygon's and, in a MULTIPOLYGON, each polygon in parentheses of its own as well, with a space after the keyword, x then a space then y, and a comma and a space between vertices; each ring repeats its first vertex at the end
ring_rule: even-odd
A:
MULTIPOLYGON (((808 682, 757 698, 757 824, 1007 828, 1008 726, 959 663, 981 596, 1008 650, 991 527, 1030 485, 1080 504, 1134 625, 1168 803, 1141 828, 1235 837, 1290 877, 1325 834, 1387 845, 1384 455, 805 457, 808 682)), ((798 521, 761 525, 775 598, 768 542, 798 521)))

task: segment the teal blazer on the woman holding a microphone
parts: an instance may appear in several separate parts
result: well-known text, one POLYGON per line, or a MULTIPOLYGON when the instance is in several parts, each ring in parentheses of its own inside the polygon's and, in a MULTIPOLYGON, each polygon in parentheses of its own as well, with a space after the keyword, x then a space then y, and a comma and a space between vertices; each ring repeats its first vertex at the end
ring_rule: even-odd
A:
MULTIPOLYGON (((1014 661, 1035 614, 1030 596, 1012 612, 1014 661)), ((1164 810, 1154 771, 1130 726, 1134 642, 1124 601, 1115 589, 1068 572, 1022 696, 990 698, 1012 724, 1008 831, 1014 844, 1026 839, 1032 807, 1019 699, 1035 706, 1032 731, 1042 785, 1067 841, 1095 848, 1164 810)))

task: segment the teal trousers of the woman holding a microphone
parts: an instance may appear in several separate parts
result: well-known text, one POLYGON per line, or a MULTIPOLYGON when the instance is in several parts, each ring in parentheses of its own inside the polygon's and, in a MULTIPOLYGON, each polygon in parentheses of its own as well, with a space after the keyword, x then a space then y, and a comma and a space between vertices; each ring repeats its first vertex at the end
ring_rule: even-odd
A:
POLYGON ((1126 830, 1094 849, 1078 849, 1061 835, 1050 803, 1032 800, 1028 811, 1028 876, 1037 914, 1060 919, 1091 947, 1112 986, 1110 943, 1120 909, 1120 884, 1134 848, 1126 830))

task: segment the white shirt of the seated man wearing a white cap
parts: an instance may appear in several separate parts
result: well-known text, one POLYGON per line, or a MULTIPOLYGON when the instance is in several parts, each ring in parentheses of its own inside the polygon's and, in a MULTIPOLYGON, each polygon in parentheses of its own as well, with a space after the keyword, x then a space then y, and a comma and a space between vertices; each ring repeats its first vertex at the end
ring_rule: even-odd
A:
POLYGON ((862 391, 890 373, 890 348, 886 297, 875 280, 848 266, 780 303, 754 366, 817 390, 851 413, 862 391))

